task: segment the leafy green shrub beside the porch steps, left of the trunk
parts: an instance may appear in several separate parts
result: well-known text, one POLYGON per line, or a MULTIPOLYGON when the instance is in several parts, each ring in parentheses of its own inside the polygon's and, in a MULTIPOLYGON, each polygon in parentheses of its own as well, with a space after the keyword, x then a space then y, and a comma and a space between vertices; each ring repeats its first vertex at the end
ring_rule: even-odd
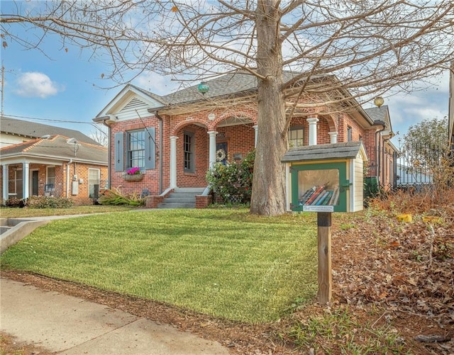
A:
POLYGON ((222 203, 249 203, 253 187, 255 150, 240 163, 214 164, 206 181, 222 203))

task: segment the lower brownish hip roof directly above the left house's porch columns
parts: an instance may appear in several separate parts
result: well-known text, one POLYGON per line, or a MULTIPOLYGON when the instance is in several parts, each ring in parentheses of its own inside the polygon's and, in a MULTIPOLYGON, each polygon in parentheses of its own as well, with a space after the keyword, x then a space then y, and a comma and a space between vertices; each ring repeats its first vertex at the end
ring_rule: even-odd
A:
POLYGON ((86 142, 68 142, 68 137, 55 135, 50 139, 38 138, 0 149, 0 162, 8 158, 50 158, 62 161, 107 165, 107 148, 86 142), (76 152, 74 153, 74 149, 76 152))

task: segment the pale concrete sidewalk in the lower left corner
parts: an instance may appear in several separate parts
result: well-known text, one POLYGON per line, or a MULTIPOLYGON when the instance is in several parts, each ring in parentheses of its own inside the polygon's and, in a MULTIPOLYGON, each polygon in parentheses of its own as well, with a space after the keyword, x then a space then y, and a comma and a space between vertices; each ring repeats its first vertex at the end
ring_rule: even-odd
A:
POLYGON ((0 296, 1 332, 58 354, 229 354, 170 325, 8 278, 0 278, 0 296))

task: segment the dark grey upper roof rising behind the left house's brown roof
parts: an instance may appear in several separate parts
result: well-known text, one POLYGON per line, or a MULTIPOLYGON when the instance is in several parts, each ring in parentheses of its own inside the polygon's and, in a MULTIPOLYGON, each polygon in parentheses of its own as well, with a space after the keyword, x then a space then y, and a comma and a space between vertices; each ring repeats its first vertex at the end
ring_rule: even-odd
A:
POLYGON ((0 132, 30 138, 40 138, 45 135, 64 135, 65 137, 75 138, 79 142, 99 145, 98 142, 78 130, 70 130, 69 128, 61 128, 54 125, 44 125, 43 123, 35 123, 28 120, 18 120, 7 116, 1 117, 0 132))

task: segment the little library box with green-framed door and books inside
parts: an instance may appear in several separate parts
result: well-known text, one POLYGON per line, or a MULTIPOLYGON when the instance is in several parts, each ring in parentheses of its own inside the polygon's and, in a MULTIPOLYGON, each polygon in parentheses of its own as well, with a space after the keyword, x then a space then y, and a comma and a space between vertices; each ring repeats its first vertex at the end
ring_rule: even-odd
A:
POLYGON ((310 145, 290 149, 288 165, 290 209, 311 212, 355 212, 363 207, 362 142, 310 145))

